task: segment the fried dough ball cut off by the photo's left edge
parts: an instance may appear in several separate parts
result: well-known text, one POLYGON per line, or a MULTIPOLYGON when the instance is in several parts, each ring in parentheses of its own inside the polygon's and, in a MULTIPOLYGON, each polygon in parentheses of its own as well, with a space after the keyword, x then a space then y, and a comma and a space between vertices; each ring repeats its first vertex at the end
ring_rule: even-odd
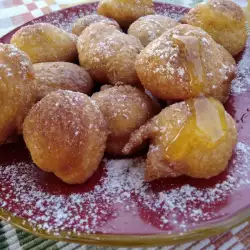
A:
POLYGON ((35 74, 23 51, 0 43, 0 144, 22 132, 22 124, 34 103, 35 74))

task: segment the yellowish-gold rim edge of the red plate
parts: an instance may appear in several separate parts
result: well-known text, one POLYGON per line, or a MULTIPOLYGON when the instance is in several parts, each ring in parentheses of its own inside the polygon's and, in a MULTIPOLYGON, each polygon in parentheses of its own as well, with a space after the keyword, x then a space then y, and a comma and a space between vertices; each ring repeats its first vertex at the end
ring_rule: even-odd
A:
MULTIPOLYGON (((68 9, 96 4, 98 1, 91 0, 88 3, 75 5, 69 8, 65 8, 55 12, 63 12, 68 9)), ((172 7, 183 8, 188 10, 189 7, 183 5, 175 5, 171 3, 164 3, 161 0, 154 1, 155 3, 160 3, 172 7)), ((48 13, 44 16, 48 16, 51 13, 48 13)), ((41 17, 34 18, 15 29, 9 31, 2 37, 0 37, 0 42, 4 40, 6 36, 10 33, 15 32, 20 29, 20 27, 29 24, 35 20, 40 19, 41 17)), ((223 233, 240 225, 245 221, 250 221, 250 204, 244 209, 239 210, 238 212, 231 215, 229 218, 226 218, 223 221, 211 223, 209 226, 201 227, 199 229, 190 230, 184 233, 176 233, 176 234, 149 234, 149 235, 129 235, 129 234, 94 234, 94 233, 79 233, 75 234, 69 231, 60 231, 59 233, 53 234, 48 233, 46 230, 39 229, 38 227, 29 223, 28 219, 21 218, 19 216, 15 216, 12 213, 6 211, 5 209, 0 207, 0 219, 5 220, 6 222, 12 224, 14 227, 24 230, 28 233, 34 234, 38 237, 42 237, 45 239, 55 240, 55 241, 65 241, 70 243, 79 243, 79 244, 88 244, 88 245, 99 245, 99 246, 119 246, 119 247, 152 247, 152 246, 168 246, 168 245, 176 245, 180 243, 190 242, 202 240, 216 234, 223 233)))

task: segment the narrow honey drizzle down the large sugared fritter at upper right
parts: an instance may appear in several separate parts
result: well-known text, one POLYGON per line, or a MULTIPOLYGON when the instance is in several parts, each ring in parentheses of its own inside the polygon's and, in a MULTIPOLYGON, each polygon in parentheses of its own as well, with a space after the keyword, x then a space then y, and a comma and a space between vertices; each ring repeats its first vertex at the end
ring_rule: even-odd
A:
POLYGON ((192 94, 197 96, 201 94, 203 84, 205 83, 205 73, 203 62, 201 60, 200 41, 195 36, 173 35, 173 41, 179 46, 181 53, 184 53, 185 68, 190 75, 190 85, 192 94))

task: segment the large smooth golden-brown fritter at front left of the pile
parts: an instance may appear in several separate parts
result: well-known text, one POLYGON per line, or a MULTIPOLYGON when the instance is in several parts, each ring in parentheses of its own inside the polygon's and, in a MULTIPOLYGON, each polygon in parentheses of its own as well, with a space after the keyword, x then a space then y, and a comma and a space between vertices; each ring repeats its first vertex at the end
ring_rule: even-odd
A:
POLYGON ((23 135, 34 163, 68 184, 84 183, 103 157, 107 123, 87 95, 57 90, 25 118, 23 135))

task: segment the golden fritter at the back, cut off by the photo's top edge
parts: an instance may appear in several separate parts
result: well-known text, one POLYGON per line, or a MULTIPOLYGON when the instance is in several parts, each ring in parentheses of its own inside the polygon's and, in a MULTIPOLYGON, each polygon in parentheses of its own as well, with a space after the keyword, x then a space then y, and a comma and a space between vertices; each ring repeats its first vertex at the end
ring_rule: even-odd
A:
POLYGON ((128 28, 141 16, 155 13, 152 0, 102 0, 97 12, 113 18, 122 28, 128 28))

